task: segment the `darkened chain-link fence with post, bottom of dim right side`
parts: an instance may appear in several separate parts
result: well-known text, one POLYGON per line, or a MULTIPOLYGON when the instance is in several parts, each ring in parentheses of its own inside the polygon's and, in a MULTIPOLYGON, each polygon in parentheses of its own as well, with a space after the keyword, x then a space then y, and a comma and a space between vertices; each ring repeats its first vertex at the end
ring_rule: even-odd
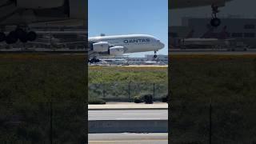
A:
POLYGON ((255 105, 249 101, 216 102, 182 98, 170 102, 170 142, 254 144, 255 105))

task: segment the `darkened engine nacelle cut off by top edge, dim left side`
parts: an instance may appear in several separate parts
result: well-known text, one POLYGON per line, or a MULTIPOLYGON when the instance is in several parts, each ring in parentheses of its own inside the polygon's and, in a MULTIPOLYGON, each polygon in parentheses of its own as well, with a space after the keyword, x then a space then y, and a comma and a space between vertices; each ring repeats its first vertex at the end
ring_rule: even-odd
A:
POLYGON ((65 0, 16 0, 16 5, 23 9, 50 9, 63 6, 65 0))

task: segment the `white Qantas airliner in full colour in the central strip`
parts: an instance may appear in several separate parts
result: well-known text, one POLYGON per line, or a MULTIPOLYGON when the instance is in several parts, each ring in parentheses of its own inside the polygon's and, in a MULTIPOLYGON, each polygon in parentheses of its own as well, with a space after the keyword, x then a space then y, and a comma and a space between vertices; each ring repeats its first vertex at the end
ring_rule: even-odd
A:
POLYGON ((119 56, 147 51, 154 51, 154 58, 157 58, 157 51, 165 46, 158 38, 146 34, 100 36, 89 38, 88 42, 89 55, 94 56, 89 62, 98 62, 97 54, 119 56))

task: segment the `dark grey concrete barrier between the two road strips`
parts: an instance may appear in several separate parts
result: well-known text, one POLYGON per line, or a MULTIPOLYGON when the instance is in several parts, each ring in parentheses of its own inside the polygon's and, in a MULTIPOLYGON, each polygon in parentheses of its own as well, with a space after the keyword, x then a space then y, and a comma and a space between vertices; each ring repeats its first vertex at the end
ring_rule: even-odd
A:
POLYGON ((168 120, 93 120, 89 133, 167 133, 168 120))

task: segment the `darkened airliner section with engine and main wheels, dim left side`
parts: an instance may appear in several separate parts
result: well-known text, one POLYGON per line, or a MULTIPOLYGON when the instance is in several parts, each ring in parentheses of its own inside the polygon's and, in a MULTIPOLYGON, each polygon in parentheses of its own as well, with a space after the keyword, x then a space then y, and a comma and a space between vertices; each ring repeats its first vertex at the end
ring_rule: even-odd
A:
POLYGON ((87 18, 86 0, 0 0, 0 42, 34 41, 29 25, 81 26, 87 18), (5 26, 17 26, 5 34, 5 26))

